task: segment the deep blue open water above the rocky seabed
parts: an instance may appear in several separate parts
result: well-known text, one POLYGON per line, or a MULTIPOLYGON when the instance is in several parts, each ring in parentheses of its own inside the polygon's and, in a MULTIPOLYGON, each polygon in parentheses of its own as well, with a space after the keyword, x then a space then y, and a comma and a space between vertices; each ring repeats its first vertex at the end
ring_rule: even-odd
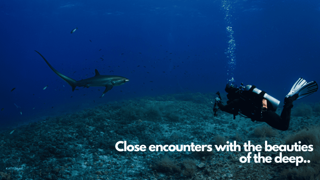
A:
POLYGON ((320 82, 318 1, 224 3, 1 1, 0 126, 142 96, 215 93, 230 78, 282 104, 299 77, 320 82), (75 80, 97 69, 130 81, 102 98, 103 87, 72 92, 35 50, 75 80))

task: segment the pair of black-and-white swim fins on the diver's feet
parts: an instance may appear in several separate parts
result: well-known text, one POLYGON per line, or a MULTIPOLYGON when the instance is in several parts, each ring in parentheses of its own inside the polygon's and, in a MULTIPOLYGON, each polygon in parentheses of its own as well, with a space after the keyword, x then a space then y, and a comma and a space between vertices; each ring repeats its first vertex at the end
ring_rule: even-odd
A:
POLYGON ((318 90, 316 81, 307 82, 303 78, 299 78, 296 83, 292 86, 290 92, 285 96, 287 98, 294 97, 293 100, 297 100, 306 97, 318 90), (297 94, 297 95, 295 95, 297 94))

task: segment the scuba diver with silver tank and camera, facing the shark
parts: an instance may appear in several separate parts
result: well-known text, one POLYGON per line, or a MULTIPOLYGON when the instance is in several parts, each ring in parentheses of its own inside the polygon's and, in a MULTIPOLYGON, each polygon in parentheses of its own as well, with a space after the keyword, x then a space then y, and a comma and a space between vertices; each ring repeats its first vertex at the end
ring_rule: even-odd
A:
POLYGON ((289 128, 292 102, 306 97, 318 89, 316 81, 307 82, 303 78, 292 86, 289 94, 284 98, 284 108, 279 116, 276 114, 276 109, 280 103, 279 100, 273 98, 265 91, 261 91, 256 86, 241 86, 238 88, 236 85, 227 84, 225 91, 227 94, 227 105, 221 102, 220 93, 217 92, 219 97, 216 98, 214 103, 214 117, 217 116, 216 112, 220 109, 222 111, 233 114, 233 119, 236 115, 241 115, 245 118, 250 118, 252 122, 266 122, 269 126, 276 129, 285 131, 289 128), (219 109, 216 108, 218 105, 219 109))

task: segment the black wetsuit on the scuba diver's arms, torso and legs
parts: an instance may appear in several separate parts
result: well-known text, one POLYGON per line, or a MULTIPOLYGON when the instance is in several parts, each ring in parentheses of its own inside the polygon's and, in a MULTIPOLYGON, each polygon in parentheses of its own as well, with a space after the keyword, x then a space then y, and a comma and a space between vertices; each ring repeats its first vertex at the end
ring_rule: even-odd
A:
MULTIPOLYGON (((284 108, 281 112, 281 116, 276 114, 276 112, 271 110, 271 108, 268 108, 267 111, 261 112, 257 110, 258 112, 255 112, 254 109, 256 108, 252 108, 252 103, 245 101, 242 98, 234 99, 227 105, 223 105, 219 101, 217 105, 222 111, 228 112, 230 114, 237 114, 240 110, 241 114, 247 116, 248 118, 251 118, 252 121, 266 122, 271 127, 285 131, 289 128, 290 124, 291 108, 293 107, 292 102, 293 101, 291 99, 284 99, 284 108)), ((267 104, 271 104, 271 102, 267 100, 267 104)))

